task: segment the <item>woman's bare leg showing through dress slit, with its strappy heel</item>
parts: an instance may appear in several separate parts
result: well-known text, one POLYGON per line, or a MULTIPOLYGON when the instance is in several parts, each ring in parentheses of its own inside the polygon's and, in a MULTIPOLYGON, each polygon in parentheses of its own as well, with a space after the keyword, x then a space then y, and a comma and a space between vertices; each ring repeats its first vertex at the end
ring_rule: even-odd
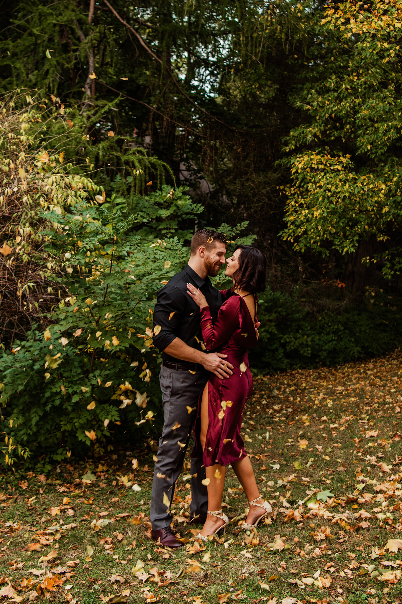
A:
MULTIPOLYGON (((202 450, 205 449, 206 434, 208 432, 208 382, 206 382, 204 391, 202 393, 201 400, 201 428, 200 428, 200 440, 202 450)), ((222 509, 222 495, 223 488, 225 487, 225 472, 226 467, 216 464, 215 466, 208 466, 205 468, 206 478, 209 478, 208 489, 208 510, 211 512, 218 512, 222 509)), ((202 535, 212 535, 220 526, 223 526, 225 521, 216 516, 208 514, 206 516, 205 524, 202 527, 202 535)))

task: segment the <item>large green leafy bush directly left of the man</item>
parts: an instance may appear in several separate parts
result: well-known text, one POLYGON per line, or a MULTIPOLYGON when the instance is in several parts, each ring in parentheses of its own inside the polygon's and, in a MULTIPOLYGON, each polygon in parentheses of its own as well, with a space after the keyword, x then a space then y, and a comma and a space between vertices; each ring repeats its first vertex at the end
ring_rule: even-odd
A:
POLYGON ((91 440, 101 453, 113 449, 112 440, 152 435, 153 422, 162 420, 152 307, 187 262, 182 242, 191 232, 179 221, 200 207, 167 185, 138 197, 128 218, 114 202, 42 210, 52 259, 43 270, 48 278, 56 268, 61 275, 53 277, 59 304, 44 333, 31 332, 1 356, 4 432, 54 460, 81 454, 91 440))

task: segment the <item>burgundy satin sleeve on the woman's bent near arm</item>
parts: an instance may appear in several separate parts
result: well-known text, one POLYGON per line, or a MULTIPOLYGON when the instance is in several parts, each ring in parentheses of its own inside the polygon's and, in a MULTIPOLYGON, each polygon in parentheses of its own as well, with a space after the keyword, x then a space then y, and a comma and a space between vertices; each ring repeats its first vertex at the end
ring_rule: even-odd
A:
POLYGON ((200 323, 204 343, 208 350, 218 348, 232 335, 239 325, 240 298, 232 296, 220 307, 215 324, 209 306, 200 309, 200 323))

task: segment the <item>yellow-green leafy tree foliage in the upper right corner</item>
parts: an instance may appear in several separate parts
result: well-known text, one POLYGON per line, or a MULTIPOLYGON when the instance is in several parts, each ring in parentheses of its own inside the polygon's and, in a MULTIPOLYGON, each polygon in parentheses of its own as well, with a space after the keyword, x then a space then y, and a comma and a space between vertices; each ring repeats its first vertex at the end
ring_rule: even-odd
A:
POLYGON ((389 251, 402 227, 401 24, 398 2, 328 8, 314 72, 294 99, 305 117, 286 149, 284 238, 302 251, 350 255, 372 237, 377 248, 363 261, 385 252, 388 276, 401 265, 400 248, 389 251))

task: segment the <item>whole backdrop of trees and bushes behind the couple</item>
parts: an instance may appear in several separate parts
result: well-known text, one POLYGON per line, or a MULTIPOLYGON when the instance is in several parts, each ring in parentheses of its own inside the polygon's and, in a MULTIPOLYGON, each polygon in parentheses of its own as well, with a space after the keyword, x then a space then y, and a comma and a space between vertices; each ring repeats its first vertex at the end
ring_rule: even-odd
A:
POLYGON ((2 4, 2 463, 152 442, 195 228, 266 254, 255 371, 401 344, 401 8, 2 4))

